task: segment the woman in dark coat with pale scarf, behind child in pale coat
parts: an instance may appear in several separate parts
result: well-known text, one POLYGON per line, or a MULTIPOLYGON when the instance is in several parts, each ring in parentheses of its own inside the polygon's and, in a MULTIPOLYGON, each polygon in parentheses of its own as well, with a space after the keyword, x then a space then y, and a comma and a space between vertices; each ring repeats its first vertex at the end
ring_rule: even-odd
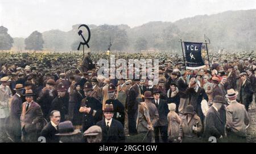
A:
POLYGON ((176 113, 179 113, 179 105, 180 105, 180 93, 177 85, 172 82, 170 84, 170 89, 167 91, 167 103, 175 103, 176 105, 176 113))

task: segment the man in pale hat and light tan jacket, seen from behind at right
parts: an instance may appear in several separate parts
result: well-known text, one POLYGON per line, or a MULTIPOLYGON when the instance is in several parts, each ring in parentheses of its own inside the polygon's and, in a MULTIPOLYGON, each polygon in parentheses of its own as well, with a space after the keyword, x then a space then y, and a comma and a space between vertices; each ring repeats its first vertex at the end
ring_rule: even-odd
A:
POLYGON ((226 98, 230 104, 226 107, 226 129, 229 142, 246 142, 246 126, 249 125, 249 115, 245 106, 236 101, 238 92, 229 89, 226 98))

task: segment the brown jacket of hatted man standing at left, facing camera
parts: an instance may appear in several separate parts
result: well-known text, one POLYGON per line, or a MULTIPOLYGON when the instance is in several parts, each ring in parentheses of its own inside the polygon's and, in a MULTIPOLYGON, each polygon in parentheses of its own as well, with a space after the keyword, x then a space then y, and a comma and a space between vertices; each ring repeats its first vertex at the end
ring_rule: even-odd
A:
POLYGON ((26 132, 34 132, 42 129, 40 127, 42 126, 43 111, 41 110, 40 105, 33 102, 26 111, 26 104, 27 102, 23 103, 22 114, 20 116, 22 130, 24 129, 26 132))

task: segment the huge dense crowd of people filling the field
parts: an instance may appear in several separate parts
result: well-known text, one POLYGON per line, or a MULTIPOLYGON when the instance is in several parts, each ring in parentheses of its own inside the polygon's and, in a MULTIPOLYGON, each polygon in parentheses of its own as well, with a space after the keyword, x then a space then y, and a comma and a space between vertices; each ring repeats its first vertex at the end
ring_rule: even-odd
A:
POLYGON ((104 52, 1 53, 0 142, 246 142, 255 52, 210 53, 195 70, 180 54, 112 54, 159 59, 158 84, 99 75, 104 52))

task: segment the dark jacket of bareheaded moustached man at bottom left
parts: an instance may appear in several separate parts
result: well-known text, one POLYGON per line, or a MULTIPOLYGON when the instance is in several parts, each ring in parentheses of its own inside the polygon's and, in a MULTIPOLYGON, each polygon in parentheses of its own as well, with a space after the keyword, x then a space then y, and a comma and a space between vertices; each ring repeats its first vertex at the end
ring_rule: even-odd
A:
POLYGON ((59 133, 59 131, 57 131, 55 127, 52 126, 51 122, 48 122, 41 131, 41 136, 46 138, 47 143, 59 143, 60 138, 59 136, 55 135, 57 133, 59 133))

